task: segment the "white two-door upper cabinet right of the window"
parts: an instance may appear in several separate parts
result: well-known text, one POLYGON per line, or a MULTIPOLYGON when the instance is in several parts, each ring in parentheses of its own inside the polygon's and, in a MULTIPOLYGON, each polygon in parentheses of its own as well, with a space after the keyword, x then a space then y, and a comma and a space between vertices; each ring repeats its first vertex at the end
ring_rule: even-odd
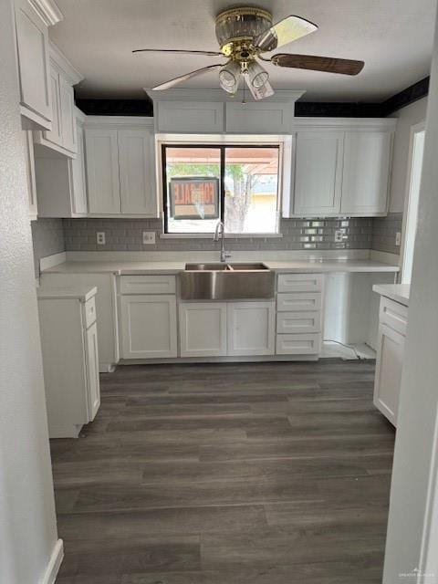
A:
MULTIPOLYGON (((284 217, 384 215, 395 120, 301 119, 284 217)), ((287 176, 287 175, 286 175, 287 176)))

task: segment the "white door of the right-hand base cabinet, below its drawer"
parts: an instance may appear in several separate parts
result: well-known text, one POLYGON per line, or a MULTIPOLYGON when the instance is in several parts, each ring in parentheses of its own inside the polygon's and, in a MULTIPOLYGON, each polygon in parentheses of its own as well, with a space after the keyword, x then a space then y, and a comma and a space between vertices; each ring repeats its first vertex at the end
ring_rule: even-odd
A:
POLYGON ((397 425, 405 337, 400 332, 379 325, 377 340, 374 405, 397 425))

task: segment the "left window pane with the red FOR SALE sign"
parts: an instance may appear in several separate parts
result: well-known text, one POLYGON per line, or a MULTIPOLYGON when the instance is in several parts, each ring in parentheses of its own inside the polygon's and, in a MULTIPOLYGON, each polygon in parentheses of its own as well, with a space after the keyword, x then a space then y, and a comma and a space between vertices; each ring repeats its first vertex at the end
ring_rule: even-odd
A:
POLYGON ((214 233, 220 177, 219 148, 166 147, 168 233, 214 233))

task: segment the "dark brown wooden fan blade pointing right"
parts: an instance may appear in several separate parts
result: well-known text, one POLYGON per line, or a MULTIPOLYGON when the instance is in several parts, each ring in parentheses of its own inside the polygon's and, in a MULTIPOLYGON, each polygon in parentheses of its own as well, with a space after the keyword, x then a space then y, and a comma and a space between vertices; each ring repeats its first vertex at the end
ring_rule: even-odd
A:
POLYGON ((348 58, 288 55, 287 53, 274 55, 271 58, 271 63, 278 67, 310 69, 326 73, 339 73, 340 75, 358 75, 365 65, 363 61, 353 61, 348 58))

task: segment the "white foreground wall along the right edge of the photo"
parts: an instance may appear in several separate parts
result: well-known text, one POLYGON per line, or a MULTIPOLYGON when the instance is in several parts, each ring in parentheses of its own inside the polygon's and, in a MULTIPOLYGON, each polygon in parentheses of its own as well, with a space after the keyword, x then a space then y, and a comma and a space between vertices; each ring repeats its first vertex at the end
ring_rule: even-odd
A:
POLYGON ((438 582, 438 35, 426 118, 384 584, 438 582), (419 569, 420 574, 400 574, 419 569), (431 570, 433 576, 422 572, 431 570))

